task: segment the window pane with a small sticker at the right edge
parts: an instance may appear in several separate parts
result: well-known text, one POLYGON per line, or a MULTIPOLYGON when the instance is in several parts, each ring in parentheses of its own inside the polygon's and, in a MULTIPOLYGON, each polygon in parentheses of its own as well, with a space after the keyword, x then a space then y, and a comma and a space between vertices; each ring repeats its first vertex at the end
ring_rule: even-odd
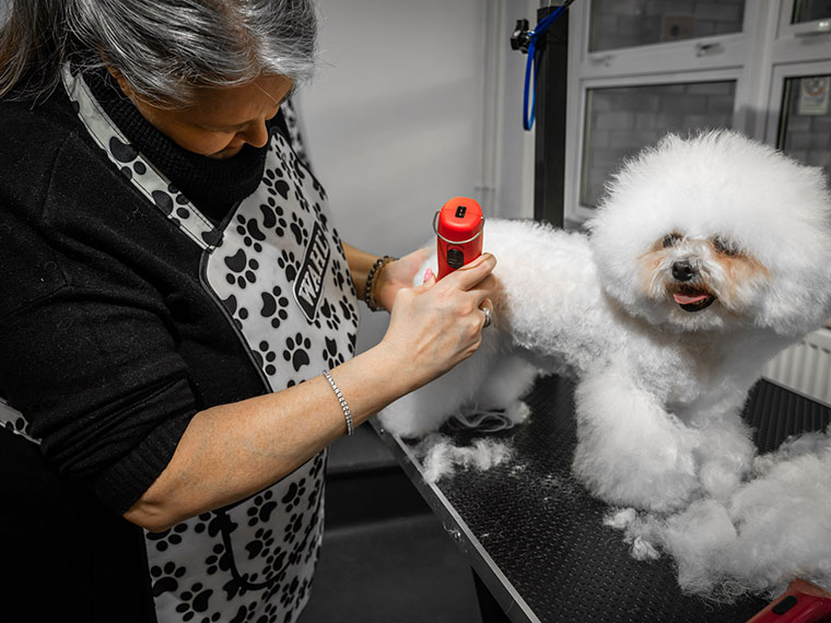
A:
POLYGON ((785 80, 776 146, 805 164, 831 175, 831 75, 785 80))

